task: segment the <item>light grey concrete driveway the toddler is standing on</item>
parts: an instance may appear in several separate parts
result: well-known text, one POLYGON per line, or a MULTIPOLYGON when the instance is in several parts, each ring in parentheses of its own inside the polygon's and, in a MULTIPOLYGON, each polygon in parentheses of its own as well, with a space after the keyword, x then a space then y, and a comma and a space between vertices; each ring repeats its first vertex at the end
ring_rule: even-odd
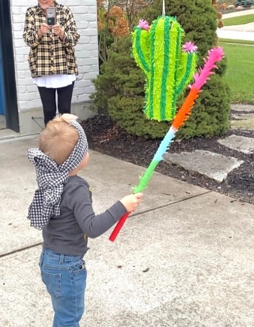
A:
MULTIPOLYGON (((0 142, 0 326, 50 327, 40 280, 41 233, 27 208, 36 183, 26 150, 0 142)), ((137 183, 143 168, 90 151, 82 171, 96 212, 137 183)), ((254 326, 254 207, 155 173, 114 243, 90 240, 82 327, 254 326)))

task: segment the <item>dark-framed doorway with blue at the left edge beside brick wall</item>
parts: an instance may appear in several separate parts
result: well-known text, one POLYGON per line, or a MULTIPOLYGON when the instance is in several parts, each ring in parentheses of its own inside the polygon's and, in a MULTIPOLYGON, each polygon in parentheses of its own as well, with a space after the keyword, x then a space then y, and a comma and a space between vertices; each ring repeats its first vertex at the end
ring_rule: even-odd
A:
POLYGON ((19 132, 10 0, 0 0, 0 128, 2 127, 19 132))

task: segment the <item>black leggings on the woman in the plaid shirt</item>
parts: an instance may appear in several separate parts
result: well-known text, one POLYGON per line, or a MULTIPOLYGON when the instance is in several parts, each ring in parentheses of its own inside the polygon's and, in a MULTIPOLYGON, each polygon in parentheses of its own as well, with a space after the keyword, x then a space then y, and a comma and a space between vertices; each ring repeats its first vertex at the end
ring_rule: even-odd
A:
POLYGON ((59 113, 71 113, 71 101, 74 83, 58 89, 39 87, 38 90, 43 104, 45 125, 56 116, 56 91, 58 94, 59 113))

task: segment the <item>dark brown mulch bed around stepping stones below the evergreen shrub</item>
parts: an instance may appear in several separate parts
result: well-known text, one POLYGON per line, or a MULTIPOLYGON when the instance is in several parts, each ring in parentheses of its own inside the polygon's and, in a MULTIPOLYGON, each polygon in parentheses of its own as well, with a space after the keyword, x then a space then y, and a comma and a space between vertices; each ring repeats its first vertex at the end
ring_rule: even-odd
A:
MULTIPOLYGON (((90 118, 83 121, 82 126, 86 131, 90 149, 143 167, 148 167, 161 141, 129 135, 106 116, 90 118)), ((254 132, 251 131, 229 131, 224 137, 232 134, 254 137, 254 132)), ((179 153, 207 150, 244 160, 238 169, 228 174, 223 183, 218 184, 199 173, 185 171, 181 167, 165 162, 161 162, 156 171, 193 185, 226 194, 233 198, 232 201, 239 200, 254 204, 254 155, 245 155, 231 150, 219 144, 218 139, 220 138, 176 140, 171 144, 169 151, 179 153)))

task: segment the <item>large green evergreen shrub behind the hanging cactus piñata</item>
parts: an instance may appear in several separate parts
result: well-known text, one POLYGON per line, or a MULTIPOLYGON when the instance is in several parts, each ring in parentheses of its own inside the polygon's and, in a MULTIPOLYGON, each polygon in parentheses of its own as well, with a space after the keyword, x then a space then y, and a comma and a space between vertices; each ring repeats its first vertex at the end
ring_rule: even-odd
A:
MULTIPOLYGON (((208 49, 217 43, 216 11, 210 0, 166 0, 166 15, 177 16, 186 32, 185 41, 199 49, 199 63, 208 49)), ((140 17, 152 22, 162 13, 162 0, 155 0, 140 17)), ((131 37, 122 37, 109 51, 109 60, 101 66, 94 81, 93 104, 99 113, 108 113, 128 133, 151 138, 163 137, 171 122, 149 121, 143 114, 144 76, 131 57, 131 37)), ((204 86, 193 113, 179 130, 178 137, 212 137, 224 134, 229 127, 230 90, 223 79, 226 61, 204 86)), ((179 106, 182 100, 179 100, 179 106)))

